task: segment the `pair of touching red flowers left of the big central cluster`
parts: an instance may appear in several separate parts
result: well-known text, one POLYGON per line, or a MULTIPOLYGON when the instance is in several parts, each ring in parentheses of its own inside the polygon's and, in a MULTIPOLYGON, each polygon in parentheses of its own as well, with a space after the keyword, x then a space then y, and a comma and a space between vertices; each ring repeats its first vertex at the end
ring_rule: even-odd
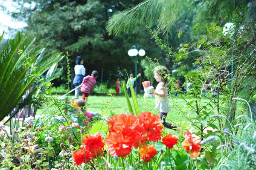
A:
POLYGON ((91 158, 96 158, 97 156, 101 156, 103 154, 103 137, 101 133, 95 133, 85 136, 85 138, 82 139, 83 147, 81 147, 79 150, 76 150, 73 152, 72 156, 77 165, 81 163, 88 163, 91 158), (85 155, 85 157, 84 157, 85 155))

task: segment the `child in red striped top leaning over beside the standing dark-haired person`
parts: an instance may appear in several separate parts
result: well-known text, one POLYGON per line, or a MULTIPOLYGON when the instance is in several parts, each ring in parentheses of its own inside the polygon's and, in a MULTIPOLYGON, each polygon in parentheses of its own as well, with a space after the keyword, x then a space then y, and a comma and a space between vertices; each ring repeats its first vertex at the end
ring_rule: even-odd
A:
POLYGON ((91 92, 93 92, 94 86, 96 84, 96 78, 98 77, 98 72, 93 70, 91 75, 84 77, 81 86, 81 93, 83 94, 82 99, 85 100, 91 92))

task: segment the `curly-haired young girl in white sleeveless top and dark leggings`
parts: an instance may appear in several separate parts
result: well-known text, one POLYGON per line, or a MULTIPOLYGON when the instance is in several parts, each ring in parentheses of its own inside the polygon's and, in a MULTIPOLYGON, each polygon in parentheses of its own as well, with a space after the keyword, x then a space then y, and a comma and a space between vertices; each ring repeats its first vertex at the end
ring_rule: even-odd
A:
POLYGON ((167 83, 166 75, 168 70, 165 66, 157 66, 154 69, 154 79, 159 82, 155 91, 153 90, 153 95, 155 96, 156 109, 160 111, 159 117, 163 120, 163 126, 169 129, 178 130, 176 126, 172 126, 166 122, 167 113, 170 111, 169 101, 168 101, 168 92, 165 87, 167 83))

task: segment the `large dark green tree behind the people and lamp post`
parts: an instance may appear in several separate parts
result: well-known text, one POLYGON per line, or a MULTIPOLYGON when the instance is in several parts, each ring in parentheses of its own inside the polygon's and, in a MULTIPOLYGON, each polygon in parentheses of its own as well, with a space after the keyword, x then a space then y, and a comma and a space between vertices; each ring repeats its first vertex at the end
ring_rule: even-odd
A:
MULTIPOLYGON (((132 45, 143 46, 147 54, 154 51, 152 46, 155 44, 150 40, 145 27, 119 36, 109 36, 105 29, 106 22, 113 12, 130 8, 141 0, 17 2, 21 5, 20 12, 13 16, 26 20, 26 30, 30 35, 38 37, 36 44, 41 44, 49 50, 69 51, 72 68, 76 56, 81 55, 85 61, 87 74, 94 69, 100 72, 98 81, 110 81, 111 84, 111 80, 114 82, 124 68, 128 72, 133 72, 134 61, 127 55, 132 45), (34 3, 35 6, 25 8, 24 3, 34 3)), ((61 66, 65 66, 65 63, 61 63, 61 66)), ((126 78, 126 75, 123 75, 126 78)))

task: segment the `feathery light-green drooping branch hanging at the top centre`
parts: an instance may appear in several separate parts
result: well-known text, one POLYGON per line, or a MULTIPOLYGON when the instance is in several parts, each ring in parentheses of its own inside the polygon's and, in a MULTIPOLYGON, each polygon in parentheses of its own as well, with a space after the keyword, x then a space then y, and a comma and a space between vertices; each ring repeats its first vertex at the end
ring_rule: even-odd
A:
POLYGON ((169 32, 175 19, 190 3, 189 0, 145 0, 134 8, 114 14, 108 21, 107 29, 109 34, 118 35, 139 25, 157 25, 160 31, 169 32))

